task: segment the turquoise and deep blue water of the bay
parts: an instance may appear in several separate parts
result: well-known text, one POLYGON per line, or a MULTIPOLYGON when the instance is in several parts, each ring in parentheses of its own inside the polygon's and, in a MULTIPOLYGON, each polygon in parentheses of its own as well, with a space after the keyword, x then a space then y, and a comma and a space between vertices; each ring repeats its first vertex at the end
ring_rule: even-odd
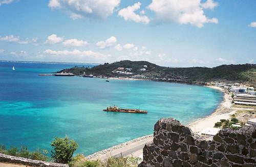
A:
POLYGON ((54 136, 68 135, 78 142, 76 153, 89 155, 152 134, 161 117, 188 124, 209 115, 223 96, 176 83, 38 76, 74 65, 0 62, 0 144, 50 150, 54 136), (102 111, 110 105, 148 113, 102 111))

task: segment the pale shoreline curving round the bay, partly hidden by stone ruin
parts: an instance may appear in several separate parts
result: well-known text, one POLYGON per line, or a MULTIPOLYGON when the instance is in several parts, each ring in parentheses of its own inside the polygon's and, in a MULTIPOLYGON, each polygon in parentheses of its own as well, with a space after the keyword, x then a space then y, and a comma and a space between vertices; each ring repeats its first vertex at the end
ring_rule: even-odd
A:
MULTIPOLYGON (((208 127, 214 127, 216 122, 220 121, 221 119, 228 119, 230 118, 231 114, 236 112, 236 109, 231 108, 232 99, 230 95, 227 94, 222 88, 217 86, 206 86, 206 87, 216 89, 224 93, 223 99, 219 103, 218 107, 214 110, 214 112, 212 112, 210 115, 207 115, 206 117, 198 118, 193 123, 190 123, 187 125, 194 133, 198 133, 208 127)), ((132 139, 130 141, 123 142, 119 145, 116 145, 111 148, 104 149, 102 151, 86 156, 86 158, 94 159, 94 160, 96 159, 105 160, 110 156, 118 156, 118 155, 123 155, 123 156, 133 155, 133 156, 139 156, 140 158, 142 158, 142 148, 144 147, 145 144, 150 142, 153 142, 153 134, 145 135, 142 137, 132 139), (134 151, 134 148, 136 147, 141 148, 141 150, 140 151, 136 150, 135 152, 131 153, 131 150, 134 151), (129 154, 124 155, 123 152, 129 152, 129 154)))

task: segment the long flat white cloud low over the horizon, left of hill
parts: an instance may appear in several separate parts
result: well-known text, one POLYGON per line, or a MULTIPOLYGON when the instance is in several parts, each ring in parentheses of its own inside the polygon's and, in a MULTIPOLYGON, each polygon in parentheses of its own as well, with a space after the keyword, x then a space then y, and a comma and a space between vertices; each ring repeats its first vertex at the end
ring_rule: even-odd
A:
POLYGON ((80 56, 80 57, 94 57, 94 58, 105 58, 109 57, 110 55, 104 55, 98 52, 93 51, 79 51, 79 50, 73 50, 73 51, 54 51, 54 50, 45 50, 45 54, 49 55, 57 55, 57 56, 80 56))

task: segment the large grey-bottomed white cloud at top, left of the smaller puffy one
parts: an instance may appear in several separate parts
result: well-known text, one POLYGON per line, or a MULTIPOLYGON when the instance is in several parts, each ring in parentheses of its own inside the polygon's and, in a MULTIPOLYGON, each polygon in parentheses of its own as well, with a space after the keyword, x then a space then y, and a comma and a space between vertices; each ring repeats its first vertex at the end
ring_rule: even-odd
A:
POLYGON ((72 19, 83 17, 105 19, 111 16, 120 0, 50 0, 51 9, 65 9, 72 19))

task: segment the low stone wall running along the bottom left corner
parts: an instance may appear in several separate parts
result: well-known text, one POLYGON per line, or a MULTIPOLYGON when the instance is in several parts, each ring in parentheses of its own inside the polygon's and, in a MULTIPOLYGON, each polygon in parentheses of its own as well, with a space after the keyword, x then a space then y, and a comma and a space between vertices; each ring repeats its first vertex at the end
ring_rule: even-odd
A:
POLYGON ((0 162, 23 164, 28 166, 41 166, 41 167, 69 167, 68 164, 32 160, 32 159, 15 157, 15 156, 10 156, 5 154, 0 154, 0 162))

